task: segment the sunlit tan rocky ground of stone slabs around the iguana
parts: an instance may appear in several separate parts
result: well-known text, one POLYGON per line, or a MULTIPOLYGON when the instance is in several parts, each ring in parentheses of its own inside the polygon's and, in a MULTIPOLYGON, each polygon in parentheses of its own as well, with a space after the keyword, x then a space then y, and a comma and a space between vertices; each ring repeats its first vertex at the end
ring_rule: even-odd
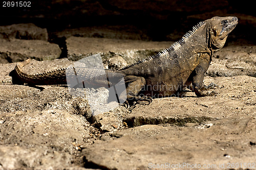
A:
POLYGON ((118 106, 92 115, 88 100, 72 96, 67 85, 28 86, 15 77, 16 62, 26 58, 34 59, 24 68, 32 74, 94 54, 105 68, 118 69, 173 43, 147 41, 132 29, 63 30, 54 33, 65 37, 58 45, 32 24, 0 27, 1 169, 256 168, 252 42, 229 41, 214 54, 204 84, 217 84, 218 95, 186 92, 132 112, 118 106))

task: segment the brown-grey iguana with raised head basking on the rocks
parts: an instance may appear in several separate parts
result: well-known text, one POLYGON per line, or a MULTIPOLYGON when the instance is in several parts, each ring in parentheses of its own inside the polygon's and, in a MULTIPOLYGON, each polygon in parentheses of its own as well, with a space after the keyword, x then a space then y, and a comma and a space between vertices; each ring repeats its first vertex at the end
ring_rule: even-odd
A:
MULTIPOLYGON (((179 41, 158 54, 119 70, 85 67, 77 67, 75 70, 83 77, 92 77, 89 83, 106 87, 118 83, 121 75, 126 87, 126 103, 145 101, 150 104, 152 97, 175 94, 184 86, 190 87, 200 97, 214 95, 214 91, 204 93, 201 90, 204 74, 209 67, 212 54, 224 46, 228 34, 237 24, 237 17, 212 17, 199 22, 179 41), (110 79, 116 81, 105 81, 105 77, 99 74, 102 70, 107 78, 116 77, 116 79, 110 79)), ((21 81, 33 85, 67 83, 67 68, 27 74, 22 67, 29 62, 30 59, 15 66, 16 74, 21 81)))

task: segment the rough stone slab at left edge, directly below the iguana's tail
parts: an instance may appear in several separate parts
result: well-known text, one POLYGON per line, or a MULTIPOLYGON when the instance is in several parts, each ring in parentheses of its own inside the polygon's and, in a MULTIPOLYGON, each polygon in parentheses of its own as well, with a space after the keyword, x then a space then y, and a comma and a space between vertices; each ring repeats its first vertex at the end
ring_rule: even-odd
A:
POLYGON ((91 116, 88 101, 83 97, 73 97, 67 87, 3 85, 0 86, 0 101, 0 112, 60 109, 91 116))

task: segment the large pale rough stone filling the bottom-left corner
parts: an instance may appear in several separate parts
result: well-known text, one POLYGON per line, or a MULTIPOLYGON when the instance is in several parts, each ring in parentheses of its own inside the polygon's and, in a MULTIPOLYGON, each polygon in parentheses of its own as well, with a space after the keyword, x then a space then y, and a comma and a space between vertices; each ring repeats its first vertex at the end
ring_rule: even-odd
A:
POLYGON ((81 145, 93 141, 83 116, 61 110, 2 112, 0 120, 4 169, 71 168, 81 145))

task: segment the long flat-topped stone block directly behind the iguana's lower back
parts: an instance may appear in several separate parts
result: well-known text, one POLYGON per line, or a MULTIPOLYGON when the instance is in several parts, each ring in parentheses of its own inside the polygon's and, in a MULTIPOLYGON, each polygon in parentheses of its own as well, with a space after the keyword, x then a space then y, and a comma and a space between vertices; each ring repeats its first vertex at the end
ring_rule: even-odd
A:
POLYGON ((154 55, 173 43, 88 37, 69 37, 66 42, 70 60, 77 61, 100 54, 103 61, 113 56, 121 56, 128 64, 154 55))

